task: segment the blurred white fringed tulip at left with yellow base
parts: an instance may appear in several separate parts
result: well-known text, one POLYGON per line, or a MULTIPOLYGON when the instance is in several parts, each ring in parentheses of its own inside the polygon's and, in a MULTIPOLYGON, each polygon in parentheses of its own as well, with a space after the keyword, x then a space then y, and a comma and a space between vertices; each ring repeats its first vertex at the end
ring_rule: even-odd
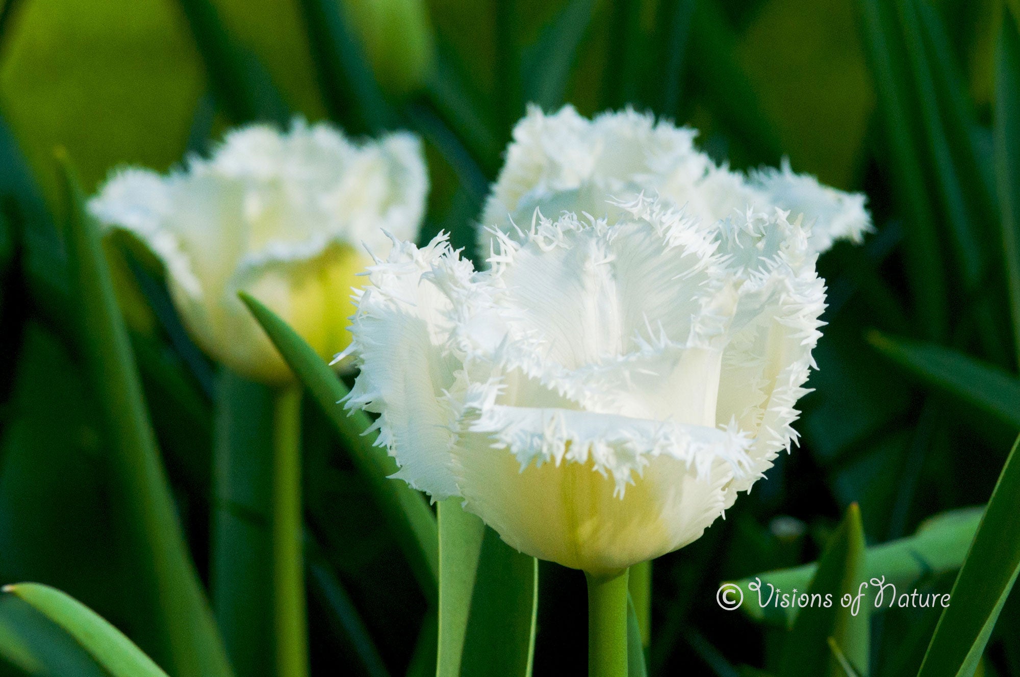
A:
POLYGON ((354 309, 343 300, 371 262, 363 245, 385 253, 385 230, 413 240, 427 188, 416 137, 358 144, 326 124, 296 121, 288 134, 232 132, 209 160, 191 158, 167 175, 119 170, 89 208, 162 259, 174 305, 210 356, 280 381, 290 372, 238 292, 266 304, 321 356, 335 355, 350 342, 354 309))

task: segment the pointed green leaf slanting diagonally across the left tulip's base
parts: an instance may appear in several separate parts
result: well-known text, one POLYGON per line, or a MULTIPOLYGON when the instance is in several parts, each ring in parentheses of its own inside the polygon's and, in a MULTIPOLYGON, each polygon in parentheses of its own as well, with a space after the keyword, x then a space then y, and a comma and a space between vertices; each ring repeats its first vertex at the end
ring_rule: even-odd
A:
POLYGON ((246 294, 240 296, 298 380, 336 426, 351 460, 371 487, 387 524, 395 531, 422 591, 435 601, 439 536, 436 518, 424 497, 404 481, 389 479, 397 472, 396 462, 385 449, 374 446, 377 435, 368 415, 357 411, 348 416, 339 404, 349 390, 328 365, 271 310, 246 294))

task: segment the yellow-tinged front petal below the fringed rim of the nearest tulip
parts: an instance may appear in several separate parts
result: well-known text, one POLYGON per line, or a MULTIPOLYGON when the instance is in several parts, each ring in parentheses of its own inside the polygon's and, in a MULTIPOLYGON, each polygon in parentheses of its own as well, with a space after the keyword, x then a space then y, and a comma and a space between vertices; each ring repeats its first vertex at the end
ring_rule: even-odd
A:
POLYGON ((700 476, 684 460, 657 456, 620 496, 592 461, 521 469, 480 433, 455 455, 467 510, 522 553, 596 575, 682 548, 727 507, 725 464, 700 476))

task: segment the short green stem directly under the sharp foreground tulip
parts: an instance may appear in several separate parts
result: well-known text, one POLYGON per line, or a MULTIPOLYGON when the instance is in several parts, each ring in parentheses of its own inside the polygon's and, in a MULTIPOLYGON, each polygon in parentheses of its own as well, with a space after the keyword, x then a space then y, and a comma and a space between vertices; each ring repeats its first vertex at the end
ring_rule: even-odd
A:
POLYGON ((627 677, 627 570, 584 575, 589 677, 627 677))

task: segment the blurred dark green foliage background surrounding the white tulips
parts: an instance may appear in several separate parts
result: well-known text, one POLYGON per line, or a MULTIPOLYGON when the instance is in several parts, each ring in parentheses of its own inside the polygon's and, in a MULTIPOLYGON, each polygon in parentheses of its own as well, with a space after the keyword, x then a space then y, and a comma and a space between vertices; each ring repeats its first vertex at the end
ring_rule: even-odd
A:
MULTIPOLYGON (((828 326, 800 448, 654 567, 651 674, 776 670, 785 630, 720 611, 720 580, 816 559, 855 502, 869 545, 985 503, 1020 429, 1018 301, 1007 295, 1017 251, 1004 248, 1010 218, 1017 227, 1004 203, 1020 197, 997 181, 992 134, 1020 119, 1009 102, 1012 117, 993 113, 998 36, 1011 20, 993 0, 6 0, 0 582, 55 585, 143 648, 158 645, 68 325, 54 147, 91 192, 115 166, 165 170, 251 120, 412 128, 432 181, 421 239, 447 229, 470 253, 526 102, 584 114, 632 105, 696 126, 733 166, 785 155, 797 171, 865 191, 874 215, 863 247, 819 262, 828 326)), ((107 249, 208 580, 213 367, 184 334, 158 266, 134 243, 107 249)), ((265 418, 259 397, 252 421, 265 418)), ((314 672, 413 670, 427 602, 328 424, 307 409, 314 672)), ((922 585, 952 580, 932 573, 922 585)), ((581 674, 582 577, 543 563, 540 581, 536 674, 581 674)), ((931 610, 872 619, 871 673, 913 674, 936 620, 931 610)), ((53 628, 10 596, 4 633, 28 658, 0 659, 2 675, 33 674, 42 644, 54 672, 40 674, 102 674, 75 644, 47 643, 53 628)), ((1016 593, 980 670, 1020 675, 1016 593)))

